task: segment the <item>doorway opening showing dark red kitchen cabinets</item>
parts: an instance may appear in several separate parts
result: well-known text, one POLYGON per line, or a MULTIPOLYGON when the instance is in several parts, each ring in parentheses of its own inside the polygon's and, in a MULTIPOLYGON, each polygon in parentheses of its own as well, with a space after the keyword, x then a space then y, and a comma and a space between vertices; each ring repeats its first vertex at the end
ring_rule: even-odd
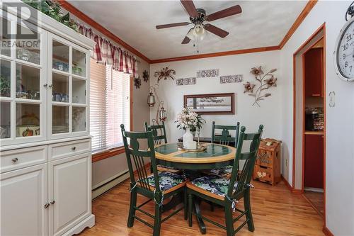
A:
POLYGON ((324 38, 302 54, 304 86, 303 190, 324 215, 324 38))

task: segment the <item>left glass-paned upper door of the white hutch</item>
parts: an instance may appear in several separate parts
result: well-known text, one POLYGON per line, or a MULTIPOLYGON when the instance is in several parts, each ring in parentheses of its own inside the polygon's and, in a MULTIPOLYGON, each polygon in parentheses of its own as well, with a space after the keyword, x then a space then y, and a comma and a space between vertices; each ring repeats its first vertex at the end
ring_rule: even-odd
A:
MULTIPOLYGON (((2 19, 4 20, 4 19, 2 19)), ((30 23, 4 21, 17 38, 0 54, 0 139, 1 144, 18 144, 46 139, 45 47, 46 33, 30 23), (33 35, 21 38, 21 35, 33 35)))

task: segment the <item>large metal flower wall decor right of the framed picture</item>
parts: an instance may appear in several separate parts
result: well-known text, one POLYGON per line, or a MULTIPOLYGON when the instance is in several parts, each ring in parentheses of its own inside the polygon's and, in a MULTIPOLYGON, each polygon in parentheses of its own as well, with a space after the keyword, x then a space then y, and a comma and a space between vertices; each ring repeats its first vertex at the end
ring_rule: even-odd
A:
POLYGON ((270 93, 264 93, 264 91, 268 90, 270 87, 277 86, 277 78, 275 78, 273 74, 276 70, 277 69, 270 69, 269 72, 264 74, 262 66, 251 68, 250 73, 253 74, 256 78, 256 81, 259 82, 259 87, 255 91, 256 84, 246 82, 246 84, 244 84, 244 93, 249 93, 249 96, 254 97, 254 103, 252 104, 252 106, 254 106, 255 104, 257 106, 260 106, 259 101, 262 101, 266 97, 272 95, 270 93))

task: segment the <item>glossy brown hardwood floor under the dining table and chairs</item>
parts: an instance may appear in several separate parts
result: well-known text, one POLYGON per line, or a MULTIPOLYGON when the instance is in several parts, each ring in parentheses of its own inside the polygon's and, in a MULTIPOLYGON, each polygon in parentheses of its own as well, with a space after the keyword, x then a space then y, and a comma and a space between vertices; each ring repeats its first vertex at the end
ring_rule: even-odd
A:
MULTIPOLYGON (((256 230, 249 232, 245 226, 237 235, 324 235, 321 231, 323 226, 321 216, 301 194, 290 193, 283 182, 274 187, 256 181, 253 181, 253 184, 255 189, 251 190, 251 206, 256 230)), ((132 228, 126 226, 130 200, 128 188, 129 180, 93 201, 96 225, 84 230, 80 236, 152 235, 152 229, 137 220, 132 228)), ((138 203, 144 200, 145 198, 138 196, 138 203)), ((237 207, 243 209, 243 203, 240 201, 237 207)), ((144 209, 153 213, 153 203, 148 203, 144 209)), ((205 204, 202 205, 202 214, 224 225, 222 208, 215 208, 215 211, 211 212, 210 206, 205 204)), ((153 223, 146 215, 139 212, 137 215, 153 223)), ((225 230, 210 223, 206 225, 206 235, 226 235, 225 230)), ((161 236, 182 235, 201 235, 194 217, 193 227, 188 227, 187 221, 183 218, 183 211, 166 220, 161 226, 161 236)))

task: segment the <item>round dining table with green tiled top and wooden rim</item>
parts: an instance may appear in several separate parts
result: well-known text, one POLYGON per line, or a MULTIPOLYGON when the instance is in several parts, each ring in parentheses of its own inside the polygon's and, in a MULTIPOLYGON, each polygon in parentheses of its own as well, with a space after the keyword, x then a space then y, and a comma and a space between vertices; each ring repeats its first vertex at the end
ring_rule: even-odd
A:
MULTIPOLYGON (((207 146, 203 152, 179 150, 178 142, 156 146, 156 164, 181 169, 188 179, 194 179, 200 176, 201 170, 226 167, 234 163, 236 148, 215 143, 202 143, 202 145, 207 146)), ((181 203, 181 197, 172 198, 166 206, 164 205, 164 209, 169 210, 178 203, 181 203)), ((195 199, 194 205, 195 211, 200 213, 199 199, 195 199)), ((205 234, 206 227, 202 218, 197 217, 197 221, 200 232, 205 234)))

